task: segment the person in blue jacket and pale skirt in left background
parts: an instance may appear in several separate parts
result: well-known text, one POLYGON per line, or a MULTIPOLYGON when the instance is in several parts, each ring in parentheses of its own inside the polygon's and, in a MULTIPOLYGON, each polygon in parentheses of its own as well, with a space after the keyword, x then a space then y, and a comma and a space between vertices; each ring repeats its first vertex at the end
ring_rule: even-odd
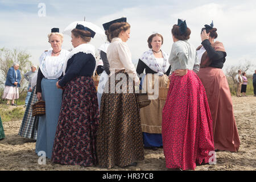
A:
POLYGON ((16 106, 14 100, 19 98, 19 87, 20 87, 21 75, 19 71, 19 64, 14 63, 13 67, 9 68, 6 82, 5 90, 3 90, 3 99, 7 99, 7 105, 16 106))

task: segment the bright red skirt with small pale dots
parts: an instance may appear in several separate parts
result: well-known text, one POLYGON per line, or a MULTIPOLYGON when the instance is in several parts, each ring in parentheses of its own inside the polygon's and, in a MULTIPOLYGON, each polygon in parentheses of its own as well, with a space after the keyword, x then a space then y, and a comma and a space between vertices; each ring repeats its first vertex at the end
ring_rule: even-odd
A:
POLYGON ((195 169, 214 151, 212 117, 204 86, 193 71, 171 76, 163 108, 162 136, 167 168, 195 169))

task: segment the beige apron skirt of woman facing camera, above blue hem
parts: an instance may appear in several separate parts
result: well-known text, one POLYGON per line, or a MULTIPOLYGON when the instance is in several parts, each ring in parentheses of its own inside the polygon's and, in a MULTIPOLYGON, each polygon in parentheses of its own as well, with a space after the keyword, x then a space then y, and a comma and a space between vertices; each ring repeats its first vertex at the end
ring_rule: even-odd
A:
MULTIPOLYGON (((146 84, 149 84, 152 90, 155 90, 155 80, 158 81, 158 86, 166 87, 168 84, 168 76, 158 76, 158 79, 152 78, 147 74, 143 81, 143 88, 146 84), (146 81, 147 80, 147 81, 146 81)), ((148 90, 147 90, 148 91, 148 90)), ((149 98, 152 95, 155 95, 155 92, 150 94, 148 93, 149 98)), ((155 97, 152 97, 155 98, 155 97)), ((141 126, 142 132, 151 133, 151 134, 162 134, 162 111, 166 100, 159 100, 159 97, 151 100, 150 105, 143 107, 141 109, 141 126)))

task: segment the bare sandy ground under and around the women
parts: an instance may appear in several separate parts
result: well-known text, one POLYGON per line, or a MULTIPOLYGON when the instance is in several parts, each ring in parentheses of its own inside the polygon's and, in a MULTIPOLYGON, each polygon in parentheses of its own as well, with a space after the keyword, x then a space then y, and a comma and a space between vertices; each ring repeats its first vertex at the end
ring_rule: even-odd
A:
MULTIPOLYGON (((204 170, 255 170, 255 121, 256 97, 232 97, 241 145, 238 152, 216 152, 217 164, 197 166, 196 171, 204 170)), ((99 167, 64 166, 53 164, 49 159, 46 164, 38 164, 35 154, 35 141, 18 135, 21 121, 3 122, 6 138, 0 140, 0 170, 106 170, 99 167)), ((149 170, 166 171, 163 149, 144 150, 145 159, 138 161, 137 167, 110 170, 149 170)))

